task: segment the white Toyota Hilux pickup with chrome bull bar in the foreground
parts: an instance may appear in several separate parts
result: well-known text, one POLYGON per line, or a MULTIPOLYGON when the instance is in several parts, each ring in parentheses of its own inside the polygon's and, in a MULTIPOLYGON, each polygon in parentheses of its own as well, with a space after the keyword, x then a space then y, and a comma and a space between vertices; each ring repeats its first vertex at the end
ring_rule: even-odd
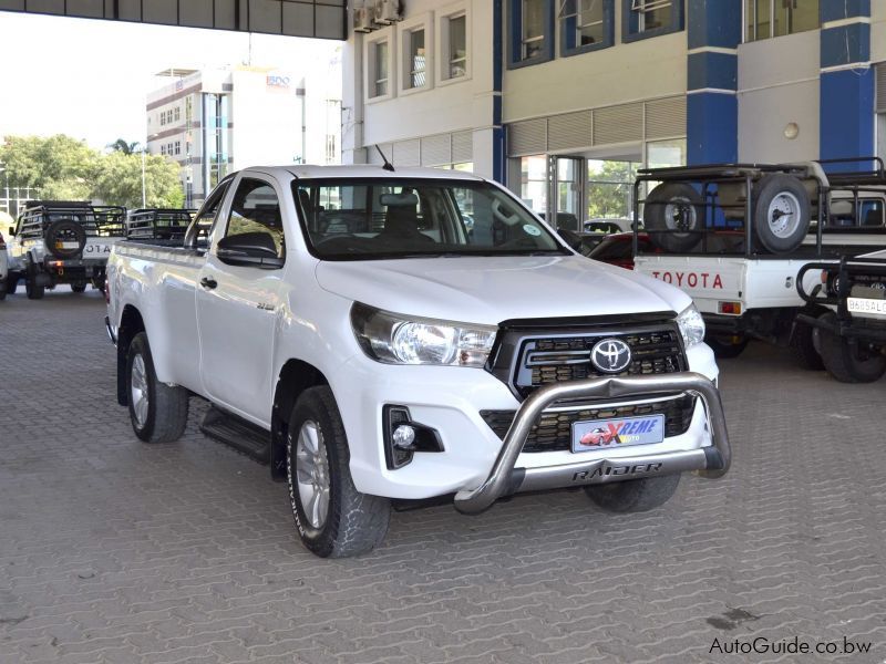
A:
POLYGON ((392 500, 474 513, 584 487, 639 511, 683 471, 728 470, 687 294, 578 256, 493 181, 391 168, 249 168, 177 246, 114 246, 106 322, 138 438, 178 438, 208 400, 203 430, 288 481, 322 557, 381 542, 392 500))

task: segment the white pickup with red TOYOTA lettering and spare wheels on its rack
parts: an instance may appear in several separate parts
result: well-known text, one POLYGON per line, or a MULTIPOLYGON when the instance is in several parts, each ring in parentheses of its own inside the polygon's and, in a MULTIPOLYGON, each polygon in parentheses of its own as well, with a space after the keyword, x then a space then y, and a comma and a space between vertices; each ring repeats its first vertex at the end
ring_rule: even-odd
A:
POLYGON ((806 369, 822 369, 816 328, 804 321, 828 311, 803 301, 797 272, 886 245, 878 158, 647 169, 635 200, 643 205, 653 247, 636 256, 635 270, 692 295, 719 357, 738 355, 755 338, 790 346, 806 369), (868 160, 875 170, 826 172, 868 160), (658 183, 646 200, 643 183, 658 183))

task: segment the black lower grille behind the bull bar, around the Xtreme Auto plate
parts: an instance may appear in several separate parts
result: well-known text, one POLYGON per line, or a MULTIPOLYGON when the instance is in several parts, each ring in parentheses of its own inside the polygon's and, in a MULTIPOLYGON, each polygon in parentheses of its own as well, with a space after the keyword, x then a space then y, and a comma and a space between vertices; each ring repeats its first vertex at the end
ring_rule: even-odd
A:
MULTIPOLYGON (((580 411, 545 412, 533 426, 523 452, 558 452, 571 449, 573 423, 590 419, 611 419, 639 415, 664 415, 664 435, 679 436, 689 429, 696 398, 678 396, 667 401, 630 404, 616 407, 601 405, 580 411)), ((516 411, 481 411, 481 417, 495 435, 504 439, 516 411)))

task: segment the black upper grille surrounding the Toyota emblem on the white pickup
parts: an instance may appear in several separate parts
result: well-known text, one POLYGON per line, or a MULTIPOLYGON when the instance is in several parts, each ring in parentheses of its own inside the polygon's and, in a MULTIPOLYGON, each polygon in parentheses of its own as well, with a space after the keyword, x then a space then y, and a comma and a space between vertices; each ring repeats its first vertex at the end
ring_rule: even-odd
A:
POLYGON ((686 370, 680 332, 676 326, 641 330, 595 331, 591 334, 564 334, 526 338, 519 344, 513 387, 523 397, 538 387, 598 376, 668 374, 686 370), (602 339, 619 339, 631 350, 630 364, 618 374, 597 371, 590 351, 602 339))

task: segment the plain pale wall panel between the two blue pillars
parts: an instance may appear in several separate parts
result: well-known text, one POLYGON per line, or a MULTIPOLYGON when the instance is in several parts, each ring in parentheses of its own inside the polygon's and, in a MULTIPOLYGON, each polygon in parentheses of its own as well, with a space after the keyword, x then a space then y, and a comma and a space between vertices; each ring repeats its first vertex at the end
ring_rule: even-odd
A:
POLYGON ((818 30, 739 46, 739 160, 818 158, 818 30), (784 135, 796 123, 794 139, 784 135))

